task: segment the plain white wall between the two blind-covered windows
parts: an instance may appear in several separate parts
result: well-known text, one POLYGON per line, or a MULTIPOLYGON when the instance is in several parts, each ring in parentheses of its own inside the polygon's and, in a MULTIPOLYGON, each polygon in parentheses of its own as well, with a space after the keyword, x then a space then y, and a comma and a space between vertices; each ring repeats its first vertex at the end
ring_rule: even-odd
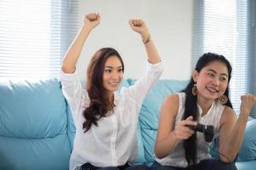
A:
POLYGON ((85 68, 97 49, 116 48, 125 62, 125 77, 142 76, 146 52, 141 37, 131 31, 128 20, 141 18, 165 64, 163 78, 188 79, 191 60, 191 0, 80 0, 80 26, 84 14, 102 16, 99 26, 90 34, 79 59, 78 69, 84 79, 85 68))

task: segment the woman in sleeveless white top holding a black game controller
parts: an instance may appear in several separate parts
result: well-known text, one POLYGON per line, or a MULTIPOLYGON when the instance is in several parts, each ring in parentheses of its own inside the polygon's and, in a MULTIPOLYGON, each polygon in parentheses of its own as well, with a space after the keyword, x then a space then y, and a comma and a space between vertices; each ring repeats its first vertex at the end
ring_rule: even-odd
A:
POLYGON ((241 96, 241 112, 236 119, 229 99, 231 71, 230 62, 223 55, 203 54, 188 86, 166 98, 161 108, 153 169, 236 169, 234 161, 256 97, 241 96), (214 127, 220 160, 210 159, 204 134, 192 128, 197 123, 214 127))

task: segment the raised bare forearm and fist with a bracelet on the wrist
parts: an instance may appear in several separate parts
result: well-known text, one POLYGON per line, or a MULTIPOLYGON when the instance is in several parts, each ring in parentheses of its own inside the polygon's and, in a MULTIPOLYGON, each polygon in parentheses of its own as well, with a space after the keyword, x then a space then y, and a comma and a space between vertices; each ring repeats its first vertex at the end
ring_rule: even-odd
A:
POLYGON ((129 24, 133 31, 139 33, 143 39, 147 54, 148 62, 151 64, 156 64, 160 62, 160 55, 154 46, 154 42, 150 37, 148 28, 143 20, 129 20, 129 24))

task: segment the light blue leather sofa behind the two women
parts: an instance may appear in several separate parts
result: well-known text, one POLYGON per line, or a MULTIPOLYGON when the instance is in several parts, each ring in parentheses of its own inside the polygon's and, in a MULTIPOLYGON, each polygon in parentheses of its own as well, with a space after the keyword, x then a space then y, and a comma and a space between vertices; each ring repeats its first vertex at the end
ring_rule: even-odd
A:
MULTIPOLYGON (((134 82, 126 79, 122 86, 134 82)), ((168 94, 184 88, 186 83, 160 80, 144 99, 137 127, 137 163, 152 163, 160 105, 168 94)), ((256 167, 254 132, 256 122, 252 119, 247 123, 247 134, 236 162, 239 170, 256 167)), ((1 170, 68 169, 74 134, 72 115, 57 79, 0 81, 1 170)))

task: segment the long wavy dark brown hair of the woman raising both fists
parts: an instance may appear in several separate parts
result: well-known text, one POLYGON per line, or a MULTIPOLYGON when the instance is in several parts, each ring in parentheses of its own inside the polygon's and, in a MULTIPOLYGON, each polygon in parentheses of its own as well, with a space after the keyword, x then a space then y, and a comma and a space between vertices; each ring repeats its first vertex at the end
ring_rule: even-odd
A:
POLYGON ((97 126, 97 121, 113 109, 113 102, 108 100, 108 95, 103 87, 104 66, 110 56, 118 57, 122 70, 125 70, 123 59, 114 48, 101 48, 90 59, 86 80, 86 90, 90 98, 90 105, 84 110, 83 114, 85 118, 83 123, 84 133, 90 129, 92 124, 97 126))

